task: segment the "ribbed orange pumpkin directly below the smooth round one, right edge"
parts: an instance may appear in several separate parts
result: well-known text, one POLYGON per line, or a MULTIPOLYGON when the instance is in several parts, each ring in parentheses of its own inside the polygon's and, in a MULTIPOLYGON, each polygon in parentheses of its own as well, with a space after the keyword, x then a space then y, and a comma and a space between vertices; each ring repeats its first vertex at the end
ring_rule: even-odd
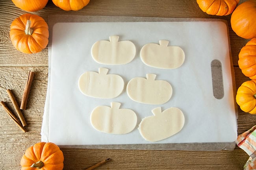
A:
POLYGON ((250 79, 256 79, 256 38, 245 44, 238 57, 238 65, 243 74, 250 79))

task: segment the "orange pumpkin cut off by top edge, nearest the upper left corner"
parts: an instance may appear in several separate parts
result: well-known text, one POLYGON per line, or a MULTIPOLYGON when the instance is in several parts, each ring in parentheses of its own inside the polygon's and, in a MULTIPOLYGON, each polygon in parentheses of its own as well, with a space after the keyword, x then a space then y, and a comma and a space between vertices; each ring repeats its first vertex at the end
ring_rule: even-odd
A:
POLYGON ((15 6, 29 12, 39 11, 43 9, 48 0, 12 0, 15 6))

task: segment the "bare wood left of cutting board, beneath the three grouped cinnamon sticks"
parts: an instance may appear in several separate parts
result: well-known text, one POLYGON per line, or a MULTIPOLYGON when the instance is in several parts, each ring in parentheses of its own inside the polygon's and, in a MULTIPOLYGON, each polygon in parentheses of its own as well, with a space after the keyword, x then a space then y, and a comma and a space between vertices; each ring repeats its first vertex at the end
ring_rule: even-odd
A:
POLYGON ((0 100, 5 101, 7 107, 15 113, 6 89, 12 89, 18 104, 20 104, 29 70, 35 71, 35 78, 28 99, 28 107, 25 111, 22 111, 28 124, 25 127, 28 132, 22 133, 19 127, 8 117, 4 109, 0 107, 1 170, 20 169, 20 159, 26 148, 41 141, 40 132, 46 97, 48 68, 0 67, 0 100))

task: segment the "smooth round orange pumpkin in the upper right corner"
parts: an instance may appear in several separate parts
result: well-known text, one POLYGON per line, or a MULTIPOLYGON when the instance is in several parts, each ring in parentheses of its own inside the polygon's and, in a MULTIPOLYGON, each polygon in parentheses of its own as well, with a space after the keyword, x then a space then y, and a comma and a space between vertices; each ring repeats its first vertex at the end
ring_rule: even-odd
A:
POLYGON ((256 38, 256 0, 247 0, 237 6, 231 15, 232 30, 244 39, 256 38))

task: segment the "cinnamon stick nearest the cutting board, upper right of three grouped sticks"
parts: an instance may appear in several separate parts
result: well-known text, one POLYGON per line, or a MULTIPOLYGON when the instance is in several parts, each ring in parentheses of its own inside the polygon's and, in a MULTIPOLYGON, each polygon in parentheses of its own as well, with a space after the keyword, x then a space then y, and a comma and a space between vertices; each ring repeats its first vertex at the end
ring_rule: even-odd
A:
POLYGON ((28 102, 28 94, 30 92, 30 87, 32 85, 34 75, 35 75, 34 72, 29 71, 28 79, 27 79, 25 89, 24 89, 24 92, 23 92, 23 96, 22 96, 22 100, 21 100, 21 103, 20 103, 20 109, 22 109, 22 110, 26 110, 26 105, 27 105, 27 102, 28 102))

